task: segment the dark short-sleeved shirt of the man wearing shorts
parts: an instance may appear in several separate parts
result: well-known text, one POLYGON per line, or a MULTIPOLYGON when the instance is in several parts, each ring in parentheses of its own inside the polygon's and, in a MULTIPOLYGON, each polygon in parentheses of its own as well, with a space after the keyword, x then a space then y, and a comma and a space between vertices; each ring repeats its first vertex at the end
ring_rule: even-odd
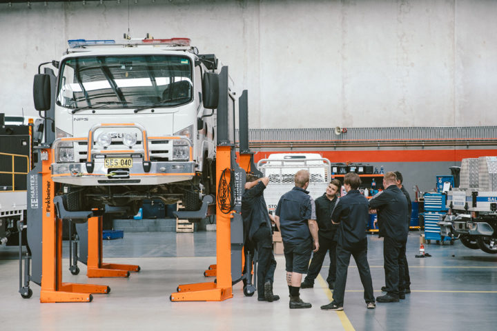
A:
POLYGON ((280 217, 283 243, 297 245, 311 240, 307 220, 316 219, 315 203, 309 192, 295 186, 278 201, 276 216, 280 217))

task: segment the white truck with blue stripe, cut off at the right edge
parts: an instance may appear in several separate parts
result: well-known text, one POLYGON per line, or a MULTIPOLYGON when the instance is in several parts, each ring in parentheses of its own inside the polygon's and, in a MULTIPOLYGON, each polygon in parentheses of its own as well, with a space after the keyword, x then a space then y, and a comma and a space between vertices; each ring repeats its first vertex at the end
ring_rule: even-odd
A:
POLYGON ((438 222, 440 235, 497 254, 497 157, 462 159, 459 181, 447 192, 449 212, 438 222))

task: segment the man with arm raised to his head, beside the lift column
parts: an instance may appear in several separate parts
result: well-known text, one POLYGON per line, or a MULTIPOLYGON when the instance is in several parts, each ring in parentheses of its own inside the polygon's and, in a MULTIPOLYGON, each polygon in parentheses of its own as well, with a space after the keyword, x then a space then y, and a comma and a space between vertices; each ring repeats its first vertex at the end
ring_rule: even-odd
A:
POLYGON ((246 247, 257 249, 257 300, 272 302, 280 297, 273 294, 276 260, 273 254, 271 220, 264 200, 264 190, 268 184, 267 177, 257 179, 247 176, 242 197, 242 218, 247 235, 246 247))

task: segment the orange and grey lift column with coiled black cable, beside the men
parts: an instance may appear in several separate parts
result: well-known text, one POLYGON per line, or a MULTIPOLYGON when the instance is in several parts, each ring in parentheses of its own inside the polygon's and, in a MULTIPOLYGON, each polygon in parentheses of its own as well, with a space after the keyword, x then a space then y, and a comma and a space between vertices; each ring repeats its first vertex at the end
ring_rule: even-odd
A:
POLYGON ((236 281, 242 274, 241 243, 233 243, 233 235, 243 239, 242 217, 235 212, 237 189, 244 184, 244 172, 237 166, 234 152, 234 106, 235 100, 229 95, 228 67, 219 74, 219 105, 217 108, 217 148, 216 148, 216 276, 215 282, 179 285, 171 294, 171 301, 223 301, 233 297, 232 273, 236 281), (231 106, 233 106, 231 108, 231 106), (232 178, 233 177, 233 178, 232 178), (237 184, 235 184, 237 182, 237 184), (235 229, 234 229, 235 228, 235 229), (233 232, 232 232, 233 231, 233 232), (233 254, 233 251, 240 252, 233 254), (235 260, 233 261, 232 256, 235 260))

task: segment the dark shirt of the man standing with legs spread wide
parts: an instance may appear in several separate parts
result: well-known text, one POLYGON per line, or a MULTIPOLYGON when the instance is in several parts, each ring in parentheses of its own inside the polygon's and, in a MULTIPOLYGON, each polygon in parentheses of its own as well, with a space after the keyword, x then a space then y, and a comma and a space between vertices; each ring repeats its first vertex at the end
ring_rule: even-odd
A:
POLYGON ((350 190, 341 197, 331 218, 335 223, 340 222, 338 245, 349 251, 367 248, 369 208, 367 199, 359 190, 350 190))

